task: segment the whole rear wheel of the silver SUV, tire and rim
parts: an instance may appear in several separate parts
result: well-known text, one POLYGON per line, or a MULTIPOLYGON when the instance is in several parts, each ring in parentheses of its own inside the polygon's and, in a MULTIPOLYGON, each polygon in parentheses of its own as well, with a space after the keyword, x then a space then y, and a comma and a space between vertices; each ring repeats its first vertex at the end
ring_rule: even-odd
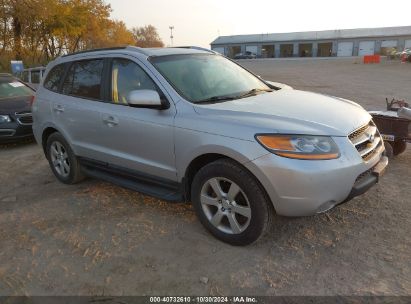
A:
POLYGON ((62 183, 72 185, 84 179, 77 157, 60 133, 53 133, 47 139, 46 155, 51 171, 62 183))

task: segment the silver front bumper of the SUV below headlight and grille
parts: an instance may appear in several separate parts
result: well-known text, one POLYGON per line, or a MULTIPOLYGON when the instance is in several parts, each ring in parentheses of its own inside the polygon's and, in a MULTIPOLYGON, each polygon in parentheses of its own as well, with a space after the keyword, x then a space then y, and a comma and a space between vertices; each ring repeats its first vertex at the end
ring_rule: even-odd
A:
POLYGON ((261 182, 277 214, 308 216, 369 190, 378 178, 375 168, 387 166, 384 148, 364 161, 344 137, 334 141, 340 148, 338 159, 305 161, 267 154, 244 164, 261 182), (361 178, 370 173, 366 178, 361 178))

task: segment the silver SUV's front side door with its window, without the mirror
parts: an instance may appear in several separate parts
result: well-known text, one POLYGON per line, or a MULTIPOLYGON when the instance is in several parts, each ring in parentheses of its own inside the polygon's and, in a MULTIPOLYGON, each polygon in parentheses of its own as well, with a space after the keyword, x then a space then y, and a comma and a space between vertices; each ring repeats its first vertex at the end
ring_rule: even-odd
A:
POLYGON ((173 123, 176 110, 151 72, 129 56, 112 58, 110 102, 100 107, 104 162, 168 180, 177 180, 173 123), (155 90, 170 101, 165 110, 128 105, 132 90, 155 90))

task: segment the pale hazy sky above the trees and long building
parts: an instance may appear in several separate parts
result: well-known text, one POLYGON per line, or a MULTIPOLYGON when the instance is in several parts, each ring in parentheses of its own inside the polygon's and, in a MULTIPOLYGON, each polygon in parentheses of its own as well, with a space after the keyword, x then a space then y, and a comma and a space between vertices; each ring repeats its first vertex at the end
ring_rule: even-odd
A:
POLYGON ((409 1, 106 0, 128 27, 154 25, 166 45, 209 47, 218 35, 411 25, 409 1))

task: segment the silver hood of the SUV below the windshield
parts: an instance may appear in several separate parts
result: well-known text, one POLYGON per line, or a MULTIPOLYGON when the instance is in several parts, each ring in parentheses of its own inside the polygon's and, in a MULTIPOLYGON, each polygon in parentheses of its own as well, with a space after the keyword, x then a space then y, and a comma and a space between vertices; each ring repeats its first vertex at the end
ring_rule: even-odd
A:
MULTIPOLYGON (((352 101, 299 90, 279 90, 238 100, 195 105, 194 110, 203 116, 201 121, 205 120, 208 125, 211 121, 213 133, 245 139, 256 133, 347 136, 371 119, 352 101), (217 128, 221 130, 217 131, 217 128)), ((199 125, 199 128, 204 127, 199 125)))

